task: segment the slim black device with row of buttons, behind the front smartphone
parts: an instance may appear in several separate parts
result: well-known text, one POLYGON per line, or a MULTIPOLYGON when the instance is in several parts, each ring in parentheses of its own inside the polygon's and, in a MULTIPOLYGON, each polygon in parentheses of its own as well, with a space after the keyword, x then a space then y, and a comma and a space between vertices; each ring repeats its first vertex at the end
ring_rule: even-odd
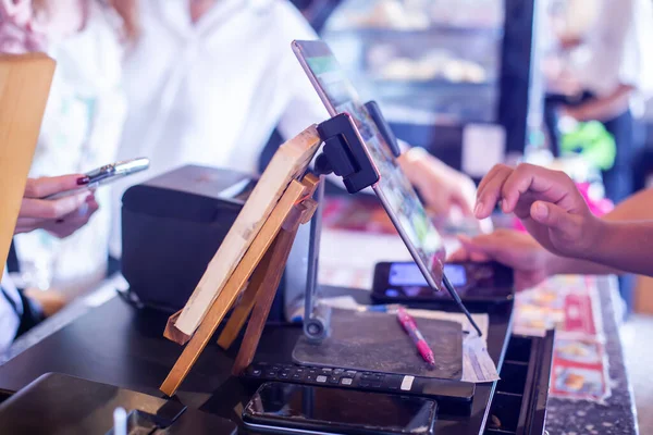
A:
POLYGON ((303 366, 292 363, 255 362, 247 368, 244 375, 246 378, 256 381, 276 381, 309 386, 401 394, 445 399, 457 403, 470 402, 476 388, 475 384, 470 382, 336 368, 303 366))

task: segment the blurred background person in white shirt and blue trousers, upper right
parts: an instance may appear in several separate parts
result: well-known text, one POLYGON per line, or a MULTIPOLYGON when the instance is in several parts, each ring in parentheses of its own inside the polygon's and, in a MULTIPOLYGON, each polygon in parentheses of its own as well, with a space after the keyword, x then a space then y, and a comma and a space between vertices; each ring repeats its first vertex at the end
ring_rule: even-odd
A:
POLYGON ((633 115, 653 91, 653 2, 595 0, 595 16, 583 35, 559 37, 566 59, 547 70, 553 96, 547 124, 557 149, 557 115, 600 121, 614 136, 617 156, 604 172, 606 196, 619 202, 633 191, 633 157, 643 144, 633 137, 633 115))

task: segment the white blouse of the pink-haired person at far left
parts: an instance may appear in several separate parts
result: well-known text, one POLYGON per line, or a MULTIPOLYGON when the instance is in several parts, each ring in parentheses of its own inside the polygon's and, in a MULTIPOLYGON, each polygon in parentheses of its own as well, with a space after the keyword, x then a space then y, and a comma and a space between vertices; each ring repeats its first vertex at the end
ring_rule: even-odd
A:
MULTIPOLYGON (((83 30, 49 41, 57 70, 29 175, 84 173, 115 160, 126 112, 121 91, 123 49, 113 11, 89 2, 83 30)), ((54 286, 74 296, 107 270, 111 191, 96 192, 100 210, 70 237, 45 231, 15 237, 27 286, 54 286)))

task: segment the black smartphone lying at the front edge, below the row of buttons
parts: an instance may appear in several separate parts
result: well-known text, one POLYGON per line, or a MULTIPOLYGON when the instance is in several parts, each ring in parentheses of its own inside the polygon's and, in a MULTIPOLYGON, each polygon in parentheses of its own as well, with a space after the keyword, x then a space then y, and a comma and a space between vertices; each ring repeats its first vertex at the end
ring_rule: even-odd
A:
POLYGON ((312 434, 433 434, 438 403, 421 397, 266 383, 243 422, 266 432, 312 434))

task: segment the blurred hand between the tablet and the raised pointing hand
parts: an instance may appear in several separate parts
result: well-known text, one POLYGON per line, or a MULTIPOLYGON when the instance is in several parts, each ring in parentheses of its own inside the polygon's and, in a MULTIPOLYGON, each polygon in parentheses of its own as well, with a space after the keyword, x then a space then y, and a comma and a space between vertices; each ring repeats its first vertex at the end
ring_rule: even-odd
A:
POLYGON ((417 187, 427 209, 448 216, 453 209, 472 216, 476 184, 467 175, 447 166, 421 148, 412 148, 399 158, 402 169, 417 187))

